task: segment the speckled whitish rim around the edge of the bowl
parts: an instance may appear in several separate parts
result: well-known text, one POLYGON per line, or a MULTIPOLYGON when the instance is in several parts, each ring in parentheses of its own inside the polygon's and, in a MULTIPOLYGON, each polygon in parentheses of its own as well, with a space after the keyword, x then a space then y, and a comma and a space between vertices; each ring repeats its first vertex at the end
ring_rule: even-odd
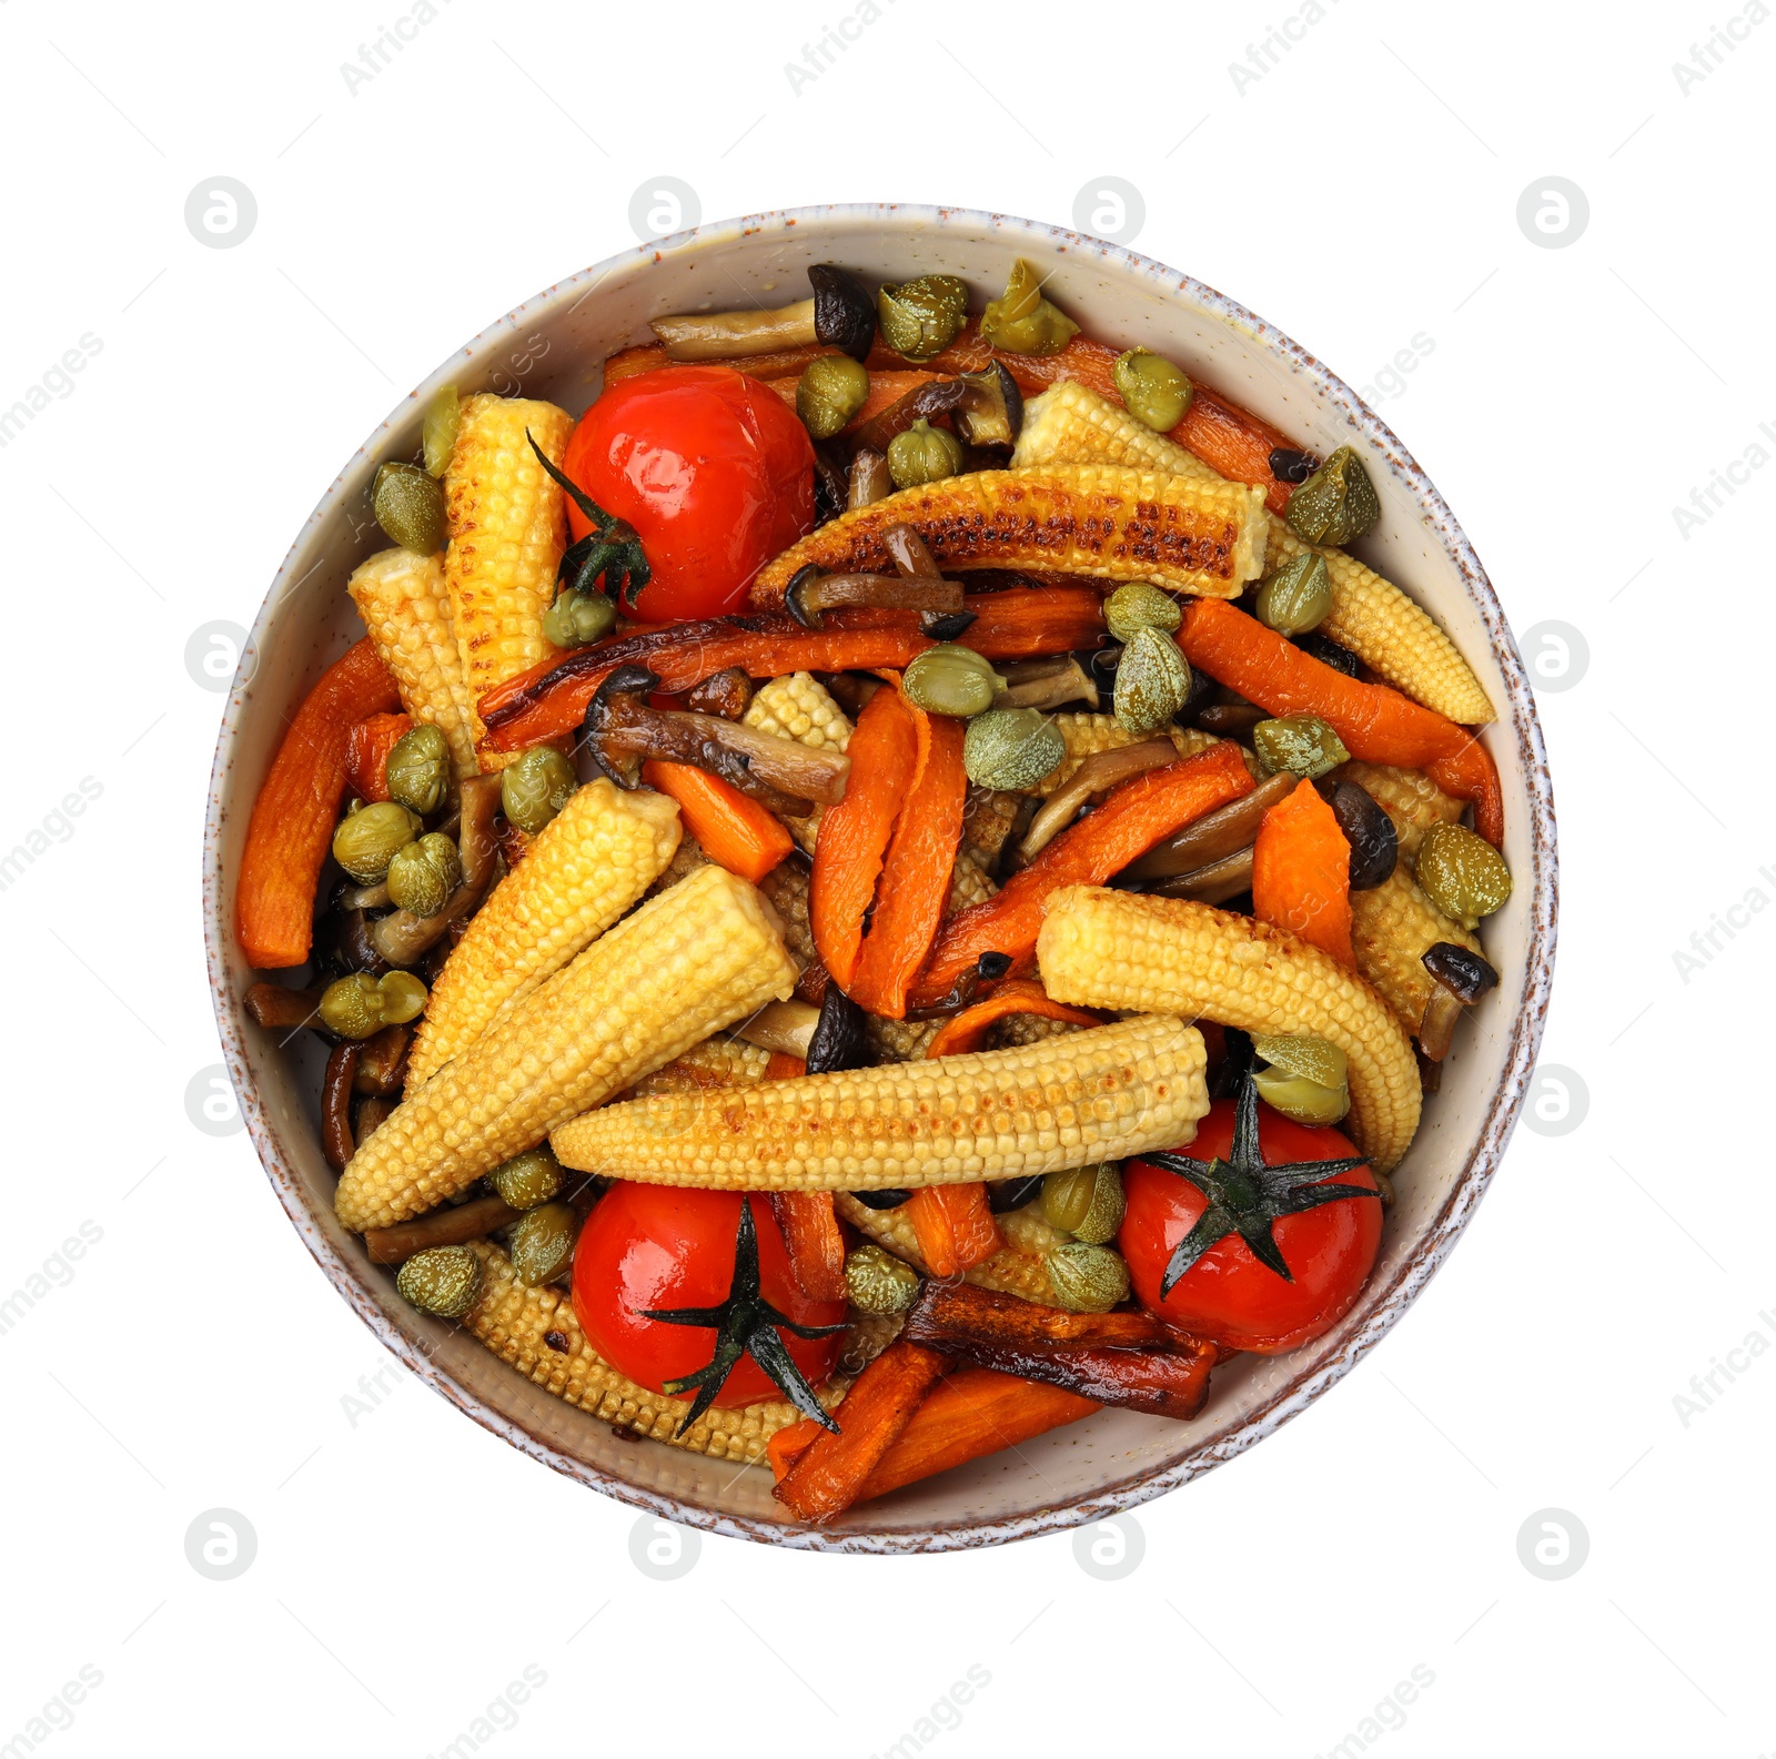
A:
MULTIPOLYGON (((472 1416, 483 1429, 511 1443, 533 1459, 552 1466, 565 1477, 588 1484, 593 1489, 643 1509, 668 1521, 694 1526, 703 1532, 723 1534, 737 1539, 753 1539, 767 1544, 789 1546, 813 1551, 851 1551, 877 1555, 904 1555, 922 1551, 957 1551, 973 1546, 1003 1544, 1012 1539, 1028 1539, 1037 1534, 1050 1534, 1064 1528, 1083 1526, 1101 1521, 1119 1511, 1135 1509, 1140 1503, 1163 1496, 1167 1491, 1204 1471, 1234 1459, 1272 1434, 1289 1418, 1300 1415, 1328 1386, 1343 1379, 1394 1326, 1419 1290, 1449 1255, 1469 1218, 1474 1214, 1492 1175, 1510 1141, 1517 1116, 1522 1111, 1529 1079, 1534 1072, 1536 1053, 1542 1044, 1542 1028, 1547 1019, 1549 994, 1554 978, 1554 943, 1558 919, 1559 863, 1554 834, 1554 788, 1547 769, 1547 751, 1542 742, 1542 726, 1536 717, 1534 696, 1529 674, 1524 669, 1517 643, 1511 637, 1504 611, 1487 579, 1487 572, 1467 541, 1460 524, 1449 511, 1442 495, 1430 477, 1419 469, 1412 454, 1401 446, 1398 435, 1364 405, 1357 394, 1314 355, 1284 335, 1275 325, 1247 311, 1238 300, 1227 298, 1190 275, 1167 268, 1153 257, 1140 256, 1122 245, 1106 243, 1099 238, 1069 231, 1067 227, 1044 225, 1043 222, 1021 220, 1016 215, 989 213, 970 208, 936 208, 911 202, 831 202, 812 208, 783 208, 757 215, 744 215, 735 220, 716 220, 670 238, 639 245, 634 250, 618 252, 606 261, 593 264, 563 282, 545 289, 538 298, 558 300, 561 295, 581 289, 581 296, 590 295, 607 275, 650 257, 659 259, 666 252, 677 252, 686 245, 707 241, 719 247, 723 240, 746 236, 757 231, 787 229, 794 225, 819 227, 822 222, 838 220, 874 220, 884 227, 948 227, 975 225, 982 229, 1018 229, 1032 234, 1048 234, 1062 248, 1083 250, 1119 264, 1124 273, 1149 280, 1154 291, 1163 295, 1186 295, 1204 312, 1220 318, 1236 330, 1243 330, 1252 339, 1270 350, 1272 355, 1286 362, 1304 378, 1325 405, 1341 412, 1362 437, 1382 453, 1396 476, 1399 486, 1412 497, 1428 529, 1435 534, 1444 552, 1460 573, 1469 600, 1478 609, 1492 646, 1494 659, 1504 678, 1506 717, 1495 722, 1502 733, 1506 728, 1515 735, 1518 758, 1526 779, 1529 806, 1529 932, 1526 951, 1526 983, 1522 1005, 1510 1029, 1510 1047, 1504 1060, 1504 1072, 1492 1095, 1492 1102, 1474 1140, 1474 1150, 1467 1157, 1462 1171, 1451 1184, 1442 1209, 1431 1219, 1419 1246, 1394 1271, 1389 1283, 1364 1292, 1368 1317, 1343 1342, 1337 1353, 1295 1379, 1279 1386, 1245 1422, 1233 1431, 1211 1436, 1195 1447, 1183 1459, 1169 1466, 1135 1471, 1128 1477, 1103 1484, 1096 1491, 1058 1502, 1034 1512, 1023 1512, 1003 1519, 955 1521, 943 1526, 913 1523, 904 1528, 877 1528, 870 1532, 822 1532, 819 1528, 778 1525, 744 1516, 723 1514, 703 1509, 696 1503, 668 1496, 659 1491, 643 1489, 609 1471, 602 1471, 588 1463, 563 1454, 559 1448, 533 1436, 520 1422, 490 1409, 478 1395, 458 1386, 455 1379, 417 1347, 416 1340, 396 1329, 387 1315, 375 1305, 368 1287, 361 1282, 359 1266, 346 1260, 327 1241, 314 1216, 304 1200, 300 1179, 286 1159, 277 1127, 274 1125, 252 1063, 247 1054, 245 1008, 227 982, 226 937, 229 925, 222 918, 222 887, 215 884, 218 872, 220 831, 224 818, 224 790, 227 783, 229 756, 234 742, 236 722, 243 706, 243 689, 250 682, 254 657, 266 634, 274 607, 286 589, 298 584, 293 577, 298 557, 305 552, 309 540, 320 524, 329 518, 346 490, 348 481, 357 481, 362 465, 369 460, 369 446, 353 456, 348 467, 329 488, 314 513, 298 532, 284 564, 254 619, 254 628, 247 646, 242 650, 242 674, 236 676, 229 694, 227 708, 222 715, 222 728, 217 738, 215 765, 210 777, 210 802, 204 816, 204 944, 208 953, 208 971, 211 994, 217 1008, 217 1024, 222 1038, 222 1054, 227 1072, 240 1099, 254 1148, 265 1166, 266 1177, 284 1205, 297 1234, 309 1248, 314 1260, 327 1273, 334 1289, 352 1305, 375 1337, 392 1351, 400 1361, 419 1379, 430 1384, 458 1409, 472 1416)), ((469 350, 487 335, 510 334, 519 327, 526 309, 535 304, 517 307, 499 323, 488 325, 469 350)), ((391 422, 407 417, 410 399, 391 414, 391 422)), ((1522 887, 1522 875, 1518 875, 1522 887)))

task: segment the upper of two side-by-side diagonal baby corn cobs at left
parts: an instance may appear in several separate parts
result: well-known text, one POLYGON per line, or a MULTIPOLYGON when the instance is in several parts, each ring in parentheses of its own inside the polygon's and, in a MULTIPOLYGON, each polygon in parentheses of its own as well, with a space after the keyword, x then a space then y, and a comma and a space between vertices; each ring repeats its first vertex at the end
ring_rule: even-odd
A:
POLYGON ((604 934, 677 847, 678 806, 664 793, 622 793, 602 776, 575 790, 444 962, 414 1035, 408 1088, 604 934))

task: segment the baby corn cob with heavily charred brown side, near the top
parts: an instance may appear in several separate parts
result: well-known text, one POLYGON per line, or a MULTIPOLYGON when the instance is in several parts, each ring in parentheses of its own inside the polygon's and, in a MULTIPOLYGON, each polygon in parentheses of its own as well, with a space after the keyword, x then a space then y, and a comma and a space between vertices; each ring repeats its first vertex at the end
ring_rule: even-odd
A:
POLYGON ((970 470, 828 520, 760 570, 753 603, 781 603, 808 563, 890 573, 883 532, 902 524, 945 568, 1051 568, 1238 598, 1263 573, 1270 515, 1245 483, 1101 463, 970 470))

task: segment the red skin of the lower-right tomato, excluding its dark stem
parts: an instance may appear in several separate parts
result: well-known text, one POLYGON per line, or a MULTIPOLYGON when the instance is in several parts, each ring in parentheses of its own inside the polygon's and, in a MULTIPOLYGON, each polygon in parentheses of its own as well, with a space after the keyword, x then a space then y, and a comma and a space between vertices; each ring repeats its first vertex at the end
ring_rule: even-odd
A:
MULTIPOLYGON (((1295 1124, 1265 1104, 1257 1106, 1257 1143, 1272 1168, 1357 1154, 1337 1131, 1295 1124)), ((1227 1159, 1233 1148, 1234 1100, 1222 1099, 1209 1108, 1197 1140, 1179 1154, 1213 1161, 1227 1159)), ((1368 1166, 1323 1182, 1375 1189, 1368 1166)), ((1293 1282, 1261 1264, 1245 1241, 1229 1232, 1162 1299, 1160 1283, 1172 1251, 1197 1225, 1208 1198, 1188 1177, 1138 1159, 1122 1170, 1122 1189, 1128 1212, 1119 1244, 1140 1305, 1197 1337, 1259 1354, 1295 1349, 1343 1319, 1362 1292, 1382 1241, 1378 1198, 1318 1203, 1270 1223, 1293 1282)))

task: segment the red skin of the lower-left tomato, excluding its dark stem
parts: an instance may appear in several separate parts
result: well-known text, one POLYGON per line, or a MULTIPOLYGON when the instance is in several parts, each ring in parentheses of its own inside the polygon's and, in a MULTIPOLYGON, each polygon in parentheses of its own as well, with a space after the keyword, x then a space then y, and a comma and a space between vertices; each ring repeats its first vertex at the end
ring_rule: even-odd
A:
MULTIPOLYGON (((771 1203, 751 1196, 758 1230, 760 1292, 797 1326, 844 1322, 844 1301, 810 1301, 790 1276, 771 1203)), ((643 1308, 719 1306, 733 1285, 739 1191, 693 1191, 620 1180, 599 1198, 574 1248, 574 1313, 591 1347, 620 1374, 652 1392, 709 1367, 714 1326, 643 1319, 643 1308)), ((838 1361, 840 1338, 797 1338, 776 1326, 790 1361, 819 1386, 838 1361)), ((751 1356, 742 1356, 718 1406, 755 1404, 783 1393, 751 1356)))

